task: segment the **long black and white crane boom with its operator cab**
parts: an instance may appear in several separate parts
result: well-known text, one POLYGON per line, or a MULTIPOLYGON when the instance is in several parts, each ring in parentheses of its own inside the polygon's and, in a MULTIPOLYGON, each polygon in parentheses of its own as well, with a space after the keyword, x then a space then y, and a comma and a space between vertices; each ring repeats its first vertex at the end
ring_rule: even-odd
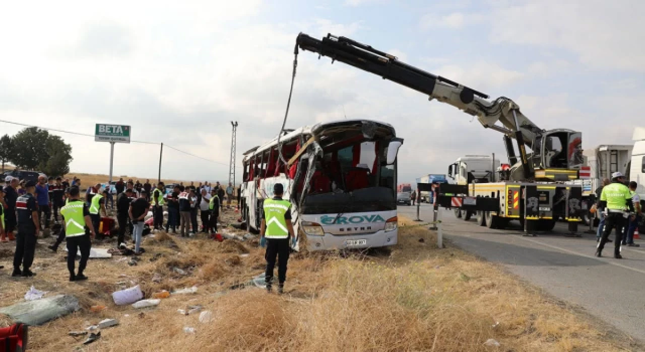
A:
MULTIPOLYGON (((379 75, 383 79, 391 80, 402 86, 424 93, 428 95, 430 100, 439 100, 440 102, 457 107, 471 116, 477 116, 477 120, 484 127, 504 134, 504 142, 510 162, 513 164, 516 161, 518 162, 517 165, 514 165, 515 172, 513 172, 517 180, 532 179, 535 176, 535 169, 546 169, 552 166, 549 165, 551 160, 544 159, 546 153, 541 153, 541 151, 546 152, 546 149, 553 149, 553 145, 551 145, 553 140, 547 140, 544 137, 553 133, 568 133, 566 136, 559 136, 560 152, 564 153, 564 149, 569 147, 569 134, 574 133, 576 136, 580 134, 565 129, 553 131, 541 129, 524 116, 519 106, 509 98, 499 97, 489 101, 488 95, 480 91, 415 68, 414 66, 399 61, 393 55, 375 50, 372 46, 361 44, 346 37, 336 37, 328 34, 322 40, 319 40, 300 33, 296 40, 296 55, 298 48, 318 53, 321 56, 330 57, 332 62, 338 60, 355 68, 362 69, 363 71, 379 75), (501 125, 497 124, 498 121, 501 125), (519 161, 515 157, 510 138, 517 140, 519 161), (533 148, 531 155, 526 153, 525 146, 533 148)), ((579 140, 581 142, 581 136, 579 140)), ((553 151, 551 151, 549 158, 555 156, 556 154, 553 154, 553 151)), ((557 169, 570 169, 571 166, 574 166, 568 162, 566 165, 562 165, 562 156, 559 156, 559 158, 560 163, 557 164, 557 169)), ((553 163, 555 164, 555 161, 553 163)), ((575 166, 573 169, 575 169, 575 166)), ((544 175, 546 176, 546 174, 544 175)))

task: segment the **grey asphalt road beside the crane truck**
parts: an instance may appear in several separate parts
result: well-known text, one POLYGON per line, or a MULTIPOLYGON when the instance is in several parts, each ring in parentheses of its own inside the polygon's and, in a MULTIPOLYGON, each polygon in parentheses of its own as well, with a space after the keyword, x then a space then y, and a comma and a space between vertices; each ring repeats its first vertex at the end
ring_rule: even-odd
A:
MULTIPOLYGON (((417 207, 402 206, 399 213, 415 219, 417 207)), ((455 245, 503 264, 551 295, 645 341, 644 241, 635 241, 639 248, 623 246, 624 259, 613 259, 613 243, 608 243, 604 257, 597 258, 595 235, 584 234, 588 227, 579 228, 582 237, 565 237, 566 224, 557 224, 550 233, 538 232, 537 237, 523 237, 519 223, 511 222, 511 230, 491 230, 475 224, 475 217, 456 219, 449 210, 442 210, 441 216, 444 236, 455 245)), ((432 221, 430 205, 421 205, 420 218, 432 221)))

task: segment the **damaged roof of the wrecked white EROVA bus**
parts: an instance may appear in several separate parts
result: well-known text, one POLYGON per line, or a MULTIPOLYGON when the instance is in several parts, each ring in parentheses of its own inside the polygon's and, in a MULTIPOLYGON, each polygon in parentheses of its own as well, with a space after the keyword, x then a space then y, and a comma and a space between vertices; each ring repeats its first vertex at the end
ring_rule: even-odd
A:
MULTIPOLYGON (((293 140, 294 138, 296 138, 297 136, 300 136, 301 134, 313 134, 314 136, 320 136, 321 134, 326 134, 326 133, 341 132, 343 129, 359 129, 359 128, 367 129, 367 130, 375 130, 376 128, 385 129, 386 133, 392 134, 393 137, 396 136, 394 127, 384 122, 379 122, 375 120, 337 120, 332 122, 321 122, 313 126, 303 126, 294 130, 287 130, 288 132, 283 134, 283 136, 280 137, 280 140, 281 142, 293 140)), ((273 145, 277 144, 277 140, 278 138, 276 136, 275 138, 273 138, 269 142, 266 142, 263 145, 259 145, 257 147, 253 147, 252 149, 249 149, 243 154, 244 160, 248 160, 248 158, 251 158, 254 154, 261 153, 263 151, 270 149, 273 145)))

